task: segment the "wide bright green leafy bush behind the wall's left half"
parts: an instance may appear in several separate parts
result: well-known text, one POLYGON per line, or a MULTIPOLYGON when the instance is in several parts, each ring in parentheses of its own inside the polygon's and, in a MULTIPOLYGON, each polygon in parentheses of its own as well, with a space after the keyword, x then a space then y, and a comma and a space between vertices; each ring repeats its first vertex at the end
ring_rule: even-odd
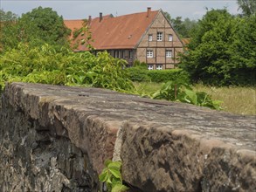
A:
POLYGON ((51 45, 31 48, 20 44, 0 55, 0 85, 4 86, 5 81, 23 81, 132 92, 134 86, 122 70, 125 64, 106 51, 94 56, 65 47, 56 51, 51 45))

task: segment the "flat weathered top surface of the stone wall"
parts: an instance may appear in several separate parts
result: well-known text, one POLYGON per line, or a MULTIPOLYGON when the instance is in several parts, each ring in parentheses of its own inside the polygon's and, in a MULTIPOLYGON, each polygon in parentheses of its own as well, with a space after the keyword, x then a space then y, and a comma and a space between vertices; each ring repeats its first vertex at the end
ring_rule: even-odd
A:
MULTIPOLYGON (((114 122, 118 128, 122 122, 139 126, 154 125, 164 130, 180 130, 184 133, 204 136, 232 144, 235 147, 255 150, 255 116, 223 113, 204 107, 182 103, 140 98, 98 88, 50 86, 13 83, 12 105, 30 107, 31 117, 38 118, 39 103, 52 103, 66 109, 95 116, 106 122, 114 122), (17 94, 22 92, 22 94, 17 94), (33 99, 25 99, 30 97, 33 99)), ((10 94, 11 95, 11 94, 10 94)))

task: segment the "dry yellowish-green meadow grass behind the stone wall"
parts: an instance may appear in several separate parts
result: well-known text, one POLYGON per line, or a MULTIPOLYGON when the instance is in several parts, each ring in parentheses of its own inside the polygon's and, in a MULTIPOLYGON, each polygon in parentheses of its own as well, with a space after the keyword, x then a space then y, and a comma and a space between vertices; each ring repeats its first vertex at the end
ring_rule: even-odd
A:
MULTIPOLYGON (((134 83, 137 93, 149 95, 155 93, 162 84, 152 82, 134 83)), ((211 95, 211 99, 221 100, 223 111, 242 115, 256 115, 256 87, 212 87, 197 84, 195 91, 211 95)))

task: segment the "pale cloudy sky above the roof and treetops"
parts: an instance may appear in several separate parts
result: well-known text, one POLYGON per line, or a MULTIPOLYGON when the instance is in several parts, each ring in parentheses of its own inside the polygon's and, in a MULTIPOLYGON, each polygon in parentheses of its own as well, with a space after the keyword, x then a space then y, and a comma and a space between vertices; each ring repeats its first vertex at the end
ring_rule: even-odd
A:
POLYGON ((103 15, 112 13, 115 17, 143 12, 147 7, 151 7, 152 10, 167 11, 172 18, 180 16, 196 20, 204 16, 206 9, 226 8, 232 14, 240 12, 237 0, 0 0, 1 9, 10 10, 18 16, 38 6, 51 7, 64 19, 99 17, 99 12, 103 15))

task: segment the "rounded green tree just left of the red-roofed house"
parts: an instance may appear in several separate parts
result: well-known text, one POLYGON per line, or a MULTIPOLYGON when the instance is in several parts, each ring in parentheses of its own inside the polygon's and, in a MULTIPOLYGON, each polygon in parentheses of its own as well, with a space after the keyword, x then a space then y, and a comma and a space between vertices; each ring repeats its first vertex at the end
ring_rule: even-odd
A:
POLYGON ((22 15, 18 21, 21 40, 37 44, 66 45, 70 34, 63 18, 52 8, 38 7, 22 15))

